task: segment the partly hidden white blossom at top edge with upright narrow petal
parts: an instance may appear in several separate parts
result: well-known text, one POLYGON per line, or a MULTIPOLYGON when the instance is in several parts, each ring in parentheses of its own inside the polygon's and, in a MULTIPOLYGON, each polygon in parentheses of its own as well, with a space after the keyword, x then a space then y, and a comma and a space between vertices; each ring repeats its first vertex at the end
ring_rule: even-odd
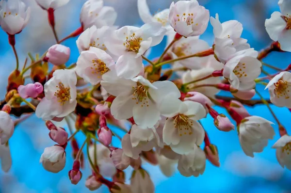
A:
POLYGON ((137 0, 137 9, 138 13, 144 23, 159 22, 162 23, 162 26, 167 30, 170 30, 172 27, 169 24, 169 9, 164 9, 155 15, 152 15, 149 11, 146 0, 137 0))

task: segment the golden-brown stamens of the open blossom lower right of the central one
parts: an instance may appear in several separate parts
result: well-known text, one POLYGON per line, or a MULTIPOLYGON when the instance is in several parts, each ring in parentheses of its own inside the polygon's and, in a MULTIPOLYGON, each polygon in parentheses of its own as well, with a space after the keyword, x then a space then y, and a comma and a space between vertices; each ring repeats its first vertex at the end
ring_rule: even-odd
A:
POLYGON ((189 119, 185 114, 178 114, 174 118, 174 127, 178 129, 179 135, 191 135, 191 127, 193 126, 193 121, 189 119))

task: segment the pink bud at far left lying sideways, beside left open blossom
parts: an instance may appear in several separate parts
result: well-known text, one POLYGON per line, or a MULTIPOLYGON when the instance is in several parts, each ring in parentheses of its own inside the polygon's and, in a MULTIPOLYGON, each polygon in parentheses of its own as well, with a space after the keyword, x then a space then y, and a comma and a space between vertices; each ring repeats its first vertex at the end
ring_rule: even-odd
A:
POLYGON ((44 90, 43 85, 39 82, 35 82, 34 84, 30 83, 27 85, 18 86, 18 93, 22 98, 32 97, 35 98, 44 90))

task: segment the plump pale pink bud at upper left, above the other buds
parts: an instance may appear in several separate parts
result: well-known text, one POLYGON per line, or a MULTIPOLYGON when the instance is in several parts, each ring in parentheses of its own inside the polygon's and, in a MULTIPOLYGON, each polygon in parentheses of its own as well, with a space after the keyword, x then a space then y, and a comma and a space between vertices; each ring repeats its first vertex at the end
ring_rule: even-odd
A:
POLYGON ((61 65, 69 60, 70 52, 70 48, 61 44, 55 44, 49 48, 46 56, 49 58, 51 64, 61 65))

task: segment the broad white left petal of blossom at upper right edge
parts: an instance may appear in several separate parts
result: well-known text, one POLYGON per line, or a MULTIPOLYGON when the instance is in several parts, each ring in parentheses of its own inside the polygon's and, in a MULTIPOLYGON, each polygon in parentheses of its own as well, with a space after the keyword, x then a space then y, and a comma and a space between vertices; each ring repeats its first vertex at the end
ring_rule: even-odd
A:
POLYGON ((271 15, 271 18, 266 19, 265 21, 266 31, 268 32, 270 38, 274 41, 278 41, 286 26, 287 23, 282 18, 282 14, 280 12, 274 12, 271 15))

